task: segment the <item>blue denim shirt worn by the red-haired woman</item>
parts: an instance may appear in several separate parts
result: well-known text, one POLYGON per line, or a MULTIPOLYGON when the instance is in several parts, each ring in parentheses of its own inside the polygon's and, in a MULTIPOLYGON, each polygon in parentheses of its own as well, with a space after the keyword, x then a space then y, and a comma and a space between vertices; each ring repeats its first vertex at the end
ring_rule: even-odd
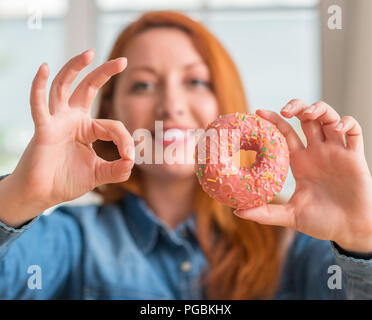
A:
MULTIPOLYGON (((0 222, 0 299, 205 299, 205 272, 195 215, 171 230, 131 193, 0 222)), ((297 232, 274 298, 372 299, 372 259, 297 232)))

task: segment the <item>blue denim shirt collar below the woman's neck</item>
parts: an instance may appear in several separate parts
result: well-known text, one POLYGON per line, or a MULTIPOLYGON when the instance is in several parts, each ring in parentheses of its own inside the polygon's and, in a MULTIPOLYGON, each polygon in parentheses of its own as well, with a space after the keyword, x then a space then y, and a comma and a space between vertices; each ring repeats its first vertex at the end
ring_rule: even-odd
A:
POLYGON ((195 214, 191 214, 172 231, 155 215, 141 197, 127 192, 121 199, 120 205, 123 208, 129 231, 145 254, 154 249, 161 230, 167 233, 180 233, 182 230, 188 229, 196 237, 195 214))

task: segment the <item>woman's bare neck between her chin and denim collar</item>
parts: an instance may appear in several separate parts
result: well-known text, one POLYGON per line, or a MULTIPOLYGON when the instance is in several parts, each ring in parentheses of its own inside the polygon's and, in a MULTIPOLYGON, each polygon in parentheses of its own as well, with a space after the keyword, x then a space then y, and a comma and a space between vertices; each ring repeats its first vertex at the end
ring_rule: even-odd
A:
POLYGON ((144 200, 164 224, 174 229, 192 213, 196 182, 193 176, 165 181, 146 175, 144 200))

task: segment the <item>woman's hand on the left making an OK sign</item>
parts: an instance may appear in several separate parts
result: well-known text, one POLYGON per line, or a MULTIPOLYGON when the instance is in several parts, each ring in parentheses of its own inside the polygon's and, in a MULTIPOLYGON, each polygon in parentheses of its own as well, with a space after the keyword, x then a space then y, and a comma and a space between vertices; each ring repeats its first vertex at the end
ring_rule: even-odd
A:
POLYGON ((122 182, 130 176, 134 142, 129 132, 120 121, 90 116, 98 89, 111 76, 124 70, 126 59, 102 64, 70 95, 71 83, 93 57, 94 52, 88 50, 64 65, 52 83, 49 103, 46 64, 40 66, 33 80, 30 103, 35 132, 16 169, 8 177, 9 182, 17 186, 23 201, 35 201, 47 209, 78 198, 99 185, 122 182), (113 141, 121 159, 108 162, 98 157, 92 147, 98 139, 113 141))

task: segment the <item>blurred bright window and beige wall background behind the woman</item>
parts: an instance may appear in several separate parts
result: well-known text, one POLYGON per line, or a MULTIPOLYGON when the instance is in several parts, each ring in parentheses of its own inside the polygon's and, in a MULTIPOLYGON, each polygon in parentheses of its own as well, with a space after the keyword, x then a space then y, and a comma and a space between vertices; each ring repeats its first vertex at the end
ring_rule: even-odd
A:
MULTIPOLYGON (((0 0, 0 175, 14 170, 33 135, 29 92, 40 64, 49 64, 50 87, 68 59, 95 48, 76 86, 107 59, 128 23, 161 9, 182 11, 219 38, 240 70, 251 112, 279 111, 293 98, 324 100, 359 121, 372 164, 370 0, 0 0)), ((290 123, 303 138, 299 122, 290 123)), ((282 195, 294 187, 290 174, 282 195)), ((91 201, 99 199, 75 202, 91 201)))

